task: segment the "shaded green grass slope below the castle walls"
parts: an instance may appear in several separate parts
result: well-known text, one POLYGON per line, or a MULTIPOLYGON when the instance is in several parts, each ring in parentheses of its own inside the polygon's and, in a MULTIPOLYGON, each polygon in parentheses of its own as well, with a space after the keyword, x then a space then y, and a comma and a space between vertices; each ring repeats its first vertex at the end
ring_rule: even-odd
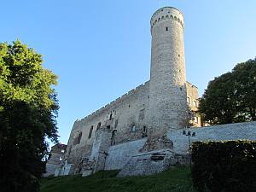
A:
POLYGON ((187 167, 177 167, 153 176, 116 177, 118 172, 97 172, 90 177, 47 177, 40 192, 195 192, 187 167))

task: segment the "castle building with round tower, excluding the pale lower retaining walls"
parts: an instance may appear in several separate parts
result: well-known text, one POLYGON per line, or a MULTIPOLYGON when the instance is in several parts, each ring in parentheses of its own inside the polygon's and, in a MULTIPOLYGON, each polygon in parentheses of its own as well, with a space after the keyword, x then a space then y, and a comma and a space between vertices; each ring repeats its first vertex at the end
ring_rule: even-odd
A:
MULTIPOLYGON (((198 90, 186 82, 183 14, 172 7, 159 9, 150 26, 150 79, 74 123, 65 154, 74 172, 83 172, 89 164, 94 164, 94 172, 104 169, 102 151, 143 138, 143 152, 172 148, 166 133, 186 126, 188 105, 196 111, 198 90)), ((199 116, 193 124, 201 125, 199 116)))

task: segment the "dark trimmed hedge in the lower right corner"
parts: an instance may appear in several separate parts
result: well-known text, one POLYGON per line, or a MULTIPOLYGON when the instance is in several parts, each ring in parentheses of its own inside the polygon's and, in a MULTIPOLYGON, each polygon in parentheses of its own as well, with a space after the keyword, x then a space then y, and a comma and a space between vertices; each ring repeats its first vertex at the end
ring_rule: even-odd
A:
POLYGON ((204 192, 256 191, 256 142, 196 142, 192 145, 195 189, 204 192))

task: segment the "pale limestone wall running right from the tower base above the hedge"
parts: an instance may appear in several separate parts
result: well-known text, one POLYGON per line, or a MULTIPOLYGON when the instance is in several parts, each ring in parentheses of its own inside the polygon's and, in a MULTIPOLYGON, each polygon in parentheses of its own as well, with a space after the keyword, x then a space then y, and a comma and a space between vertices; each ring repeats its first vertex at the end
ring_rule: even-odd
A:
MULTIPOLYGON (((196 137, 190 137, 194 141, 221 141, 247 139, 256 140, 256 122, 216 125, 201 128, 188 129, 195 131, 196 137)), ((173 150, 178 154, 186 154, 189 150, 188 137, 183 136, 183 131, 169 131, 167 137, 173 142, 173 150)))

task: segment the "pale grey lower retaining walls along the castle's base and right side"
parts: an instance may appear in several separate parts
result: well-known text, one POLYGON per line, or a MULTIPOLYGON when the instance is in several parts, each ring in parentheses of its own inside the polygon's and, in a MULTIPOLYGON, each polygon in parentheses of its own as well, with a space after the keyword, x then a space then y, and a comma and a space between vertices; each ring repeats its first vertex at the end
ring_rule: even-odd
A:
MULTIPOLYGON (((256 122, 190 128, 189 131, 195 131, 196 133, 196 137, 190 137, 191 143, 195 141, 256 140, 256 122)), ((183 136, 183 130, 169 131, 167 137, 173 142, 173 148, 168 149, 172 152, 171 156, 168 158, 167 155, 167 160, 171 163, 171 166, 184 162, 188 163, 183 155, 188 154, 189 141, 188 137, 183 136), (176 156, 177 154, 178 156, 176 156)), ((127 176, 132 174, 143 175, 146 171, 147 174, 152 174, 157 172, 160 167, 163 170, 166 169, 166 166, 163 166, 166 158, 152 160, 152 154, 159 156, 160 154, 166 154, 166 152, 141 153, 140 148, 143 147, 144 143, 146 143, 146 139, 110 147, 105 170, 122 170, 122 172, 125 172, 124 175, 127 176)))

